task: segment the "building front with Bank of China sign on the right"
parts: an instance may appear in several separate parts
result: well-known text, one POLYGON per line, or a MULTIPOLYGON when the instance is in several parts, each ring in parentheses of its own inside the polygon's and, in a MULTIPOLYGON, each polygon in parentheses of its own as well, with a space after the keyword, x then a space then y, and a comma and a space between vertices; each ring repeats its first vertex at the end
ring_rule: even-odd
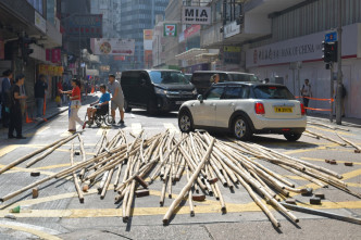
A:
POLYGON ((250 1, 245 5, 245 25, 238 38, 246 37, 247 22, 251 20, 253 29, 261 25, 264 27, 266 22, 269 35, 259 35, 242 42, 245 68, 260 78, 269 77, 271 81, 285 84, 296 96, 300 96, 303 80, 310 79, 315 98, 310 101, 310 108, 328 114, 329 101, 321 99, 334 99, 331 81, 336 83, 334 79, 338 70, 335 66, 334 73, 331 73, 325 68, 322 41, 331 29, 337 28, 338 14, 341 14, 341 71, 347 92, 345 114, 360 118, 361 2, 344 0, 341 4, 339 9, 337 0, 296 1, 288 8, 279 9, 276 1, 250 1), (260 21, 254 21, 256 16, 261 16, 260 21))

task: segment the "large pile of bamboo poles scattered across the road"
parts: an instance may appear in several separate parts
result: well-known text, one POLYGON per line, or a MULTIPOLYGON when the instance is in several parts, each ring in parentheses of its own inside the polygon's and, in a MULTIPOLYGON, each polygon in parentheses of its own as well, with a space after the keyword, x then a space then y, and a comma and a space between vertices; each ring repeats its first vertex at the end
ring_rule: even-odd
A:
MULTIPOLYGON (((186 175, 184 181, 187 184, 169 207, 163 217, 163 224, 169 224, 183 200, 188 200, 190 215, 194 216, 194 201, 202 200, 206 195, 219 200, 220 210, 226 213, 226 203, 220 185, 232 191, 238 186, 242 186, 275 227, 281 226, 279 222, 264 201, 282 212, 291 222, 298 223, 298 218, 286 210, 281 201, 288 198, 290 193, 306 193, 308 189, 296 188, 295 184, 286 177, 264 166, 263 161, 277 165, 320 187, 332 185, 361 198, 359 193, 351 191, 340 180, 340 175, 333 170, 256 143, 232 139, 216 140, 208 132, 191 132, 177 138, 174 134, 165 131, 147 138, 141 131, 138 136, 134 136, 135 139, 132 142, 128 142, 122 130, 117 131, 111 139, 104 131, 97 143, 95 156, 88 160, 83 139, 80 136, 74 135, 51 143, 50 148, 41 149, 45 153, 30 163, 35 164, 41 157, 43 159, 76 137, 79 140, 82 162, 74 164, 74 143, 72 143, 70 156, 72 165, 70 167, 9 193, 0 201, 8 201, 46 181, 72 177, 82 203, 85 200, 83 190, 88 190, 98 184, 98 193, 101 199, 104 199, 110 186, 113 185, 114 191, 117 193, 115 203, 122 201, 122 217, 123 222, 126 223, 130 217, 137 191, 147 189, 159 178, 162 181, 160 205, 163 206, 165 197, 172 198, 173 186, 186 175), (149 179, 148 182, 145 179, 149 179)), ((37 150, 35 153, 28 154, 27 157, 22 157, 3 167, 0 173, 39 153, 41 151, 37 150)))

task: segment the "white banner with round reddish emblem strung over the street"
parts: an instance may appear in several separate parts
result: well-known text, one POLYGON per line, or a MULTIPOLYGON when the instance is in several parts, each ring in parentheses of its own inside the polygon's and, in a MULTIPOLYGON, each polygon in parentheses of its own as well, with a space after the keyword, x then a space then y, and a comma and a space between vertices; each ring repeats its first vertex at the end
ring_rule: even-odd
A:
POLYGON ((91 38, 91 51, 96 55, 134 55, 135 40, 120 38, 91 38))

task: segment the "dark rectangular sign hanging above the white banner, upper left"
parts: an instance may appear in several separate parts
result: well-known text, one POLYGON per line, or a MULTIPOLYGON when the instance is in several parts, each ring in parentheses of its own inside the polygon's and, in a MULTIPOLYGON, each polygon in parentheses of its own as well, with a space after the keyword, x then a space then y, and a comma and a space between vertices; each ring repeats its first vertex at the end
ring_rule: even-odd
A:
POLYGON ((72 16, 72 18, 65 23, 65 33, 71 37, 101 38, 102 15, 82 14, 72 16))

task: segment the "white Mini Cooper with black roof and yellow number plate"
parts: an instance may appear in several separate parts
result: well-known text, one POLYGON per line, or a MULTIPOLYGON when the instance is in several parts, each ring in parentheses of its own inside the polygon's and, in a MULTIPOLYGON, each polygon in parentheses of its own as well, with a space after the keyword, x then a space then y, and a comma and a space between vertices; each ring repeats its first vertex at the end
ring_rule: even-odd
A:
POLYGON ((183 103, 178 126, 183 132, 225 129, 240 140, 253 134, 282 134, 297 141, 306 129, 306 118, 303 104, 284 85, 223 83, 183 103))

